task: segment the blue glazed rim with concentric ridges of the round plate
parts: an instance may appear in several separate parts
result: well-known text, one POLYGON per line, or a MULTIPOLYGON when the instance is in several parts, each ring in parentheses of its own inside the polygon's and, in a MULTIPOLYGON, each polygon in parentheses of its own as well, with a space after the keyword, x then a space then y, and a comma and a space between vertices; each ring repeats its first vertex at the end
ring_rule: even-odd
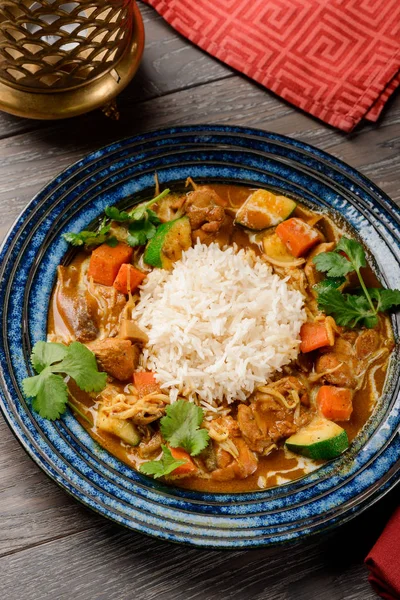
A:
MULTIPOLYGON (((289 138, 238 127, 168 129, 107 146, 40 192, 0 255, 0 381, 6 421, 35 462, 75 498, 131 529, 197 546, 238 548, 298 539, 344 522, 375 502, 400 476, 399 348, 383 397, 341 458, 274 489, 222 495, 152 481, 100 448, 71 414, 41 419, 21 394, 32 345, 46 336, 61 234, 79 231, 106 205, 150 196, 161 184, 198 181, 272 187, 338 211, 363 239, 375 270, 400 288, 400 211, 360 173, 289 138)), ((396 340, 400 317, 392 318, 396 340)))

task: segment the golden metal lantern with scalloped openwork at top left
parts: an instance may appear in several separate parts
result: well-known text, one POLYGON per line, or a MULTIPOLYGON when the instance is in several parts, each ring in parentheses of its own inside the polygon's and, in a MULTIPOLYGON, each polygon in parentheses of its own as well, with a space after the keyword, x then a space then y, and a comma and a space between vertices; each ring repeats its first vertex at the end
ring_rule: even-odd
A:
POLYGON ((136 73, 144 28, 135 0, 0 2, 0 110, 62 119, 105 105, 136 73))

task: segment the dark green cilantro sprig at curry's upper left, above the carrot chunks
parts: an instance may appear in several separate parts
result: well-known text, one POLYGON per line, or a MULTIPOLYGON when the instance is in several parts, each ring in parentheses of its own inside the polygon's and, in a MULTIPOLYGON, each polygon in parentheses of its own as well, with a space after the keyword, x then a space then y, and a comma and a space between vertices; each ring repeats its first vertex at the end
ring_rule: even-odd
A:
POLYGON ((73 246, 93 247, 106 243, 114 247, 118 244, 118 240, 111 234, 111 223, 115 221, 127 226, 126 242, 130 246, 144 246, 147 240, 155 236, 157 226, 161 222, 150 207, 169 193, 170 190, 166 189, 152 200, 135 206, 129 212, 119 210, 116 206, 107 206, 104 210, 105 217, 95 231, 83 230, 80 233, 64 233, 63 238, 73 246))

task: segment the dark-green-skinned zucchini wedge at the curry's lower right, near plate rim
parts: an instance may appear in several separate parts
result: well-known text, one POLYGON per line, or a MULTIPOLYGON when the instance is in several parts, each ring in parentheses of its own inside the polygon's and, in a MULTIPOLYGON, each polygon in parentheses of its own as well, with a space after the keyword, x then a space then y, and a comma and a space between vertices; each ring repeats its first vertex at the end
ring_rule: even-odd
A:
POLYGON ((323 417, 311 423, 286 440, 286 447, 296 454, 315 460, 330 460, 340 456, 349 446, 345 430, 323 417))

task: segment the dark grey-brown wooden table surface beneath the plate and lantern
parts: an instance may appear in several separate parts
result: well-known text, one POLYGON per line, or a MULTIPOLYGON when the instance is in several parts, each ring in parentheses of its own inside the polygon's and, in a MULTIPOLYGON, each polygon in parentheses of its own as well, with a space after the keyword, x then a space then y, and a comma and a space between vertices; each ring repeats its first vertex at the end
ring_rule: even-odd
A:
MULTIPOLYGON (((0 114, 0 237, 60 170, 118 138, 189 123, 247 125, 315 144, 347 161, 400 204, 400 95, 378 125, 344 134, 306 116, 179 37, 140 6, 147 42, 121 95, 121 120, 67 122, 0 114)), ((370 600, 363 559, 392 491, 330 536, 249 552, 196 550, 126 531, 50 481, 0 422, 0 596, 4 600, 370 600)))

